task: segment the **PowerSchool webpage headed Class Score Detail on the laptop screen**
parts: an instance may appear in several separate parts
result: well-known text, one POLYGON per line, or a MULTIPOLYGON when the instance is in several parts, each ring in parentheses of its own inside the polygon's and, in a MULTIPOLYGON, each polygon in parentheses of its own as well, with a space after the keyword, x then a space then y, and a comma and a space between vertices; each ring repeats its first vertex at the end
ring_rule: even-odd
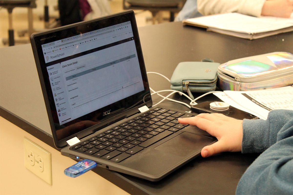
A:
POLYGON ((75 48, 82 52, 64 51, 50 62, 47 71, 60 125, 144 90, 129 29, 118 40, 113 34, 103 41, 108 44, 90 42, 75 48))

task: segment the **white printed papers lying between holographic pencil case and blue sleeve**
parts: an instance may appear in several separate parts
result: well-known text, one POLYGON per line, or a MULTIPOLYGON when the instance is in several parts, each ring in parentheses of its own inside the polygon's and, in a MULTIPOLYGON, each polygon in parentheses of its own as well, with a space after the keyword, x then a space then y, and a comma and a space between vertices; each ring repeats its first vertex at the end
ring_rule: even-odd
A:
POLYGON ((293 110, 293 87, 279 87, 256 91, 224 91, 214 93, 231 106, 251 113, 258 118, 267 119, 271 110, 293 110), (243 109, 244 108, 244 109, 243 109))

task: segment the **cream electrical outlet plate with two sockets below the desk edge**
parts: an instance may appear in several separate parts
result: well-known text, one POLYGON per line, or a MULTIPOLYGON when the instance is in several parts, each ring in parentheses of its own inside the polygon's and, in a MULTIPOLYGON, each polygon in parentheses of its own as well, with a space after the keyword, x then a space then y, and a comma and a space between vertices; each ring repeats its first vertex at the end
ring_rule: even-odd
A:
POLYGON ((51 153, 26 137, 23 146, 25 168, 52 185, 51 153))

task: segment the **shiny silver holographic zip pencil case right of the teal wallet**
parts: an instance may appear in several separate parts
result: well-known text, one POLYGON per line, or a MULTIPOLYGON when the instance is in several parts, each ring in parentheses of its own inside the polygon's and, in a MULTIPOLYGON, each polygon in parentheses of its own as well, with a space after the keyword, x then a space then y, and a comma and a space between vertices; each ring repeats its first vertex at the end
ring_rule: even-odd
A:
POLYGON ((222 90, 249 91, 293 84, 293 55, 273 52, 228 61, 218 67, 222 90))

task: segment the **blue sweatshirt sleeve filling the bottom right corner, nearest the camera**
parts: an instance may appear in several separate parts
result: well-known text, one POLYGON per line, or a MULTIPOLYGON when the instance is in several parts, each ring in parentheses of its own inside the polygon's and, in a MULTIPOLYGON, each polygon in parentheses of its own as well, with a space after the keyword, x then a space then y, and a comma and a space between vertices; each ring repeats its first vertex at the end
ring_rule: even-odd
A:
POLYGON ((241 177, 236 194, 293 193, 293 119, 277 134, 277 142, 264 151, 241 177))

